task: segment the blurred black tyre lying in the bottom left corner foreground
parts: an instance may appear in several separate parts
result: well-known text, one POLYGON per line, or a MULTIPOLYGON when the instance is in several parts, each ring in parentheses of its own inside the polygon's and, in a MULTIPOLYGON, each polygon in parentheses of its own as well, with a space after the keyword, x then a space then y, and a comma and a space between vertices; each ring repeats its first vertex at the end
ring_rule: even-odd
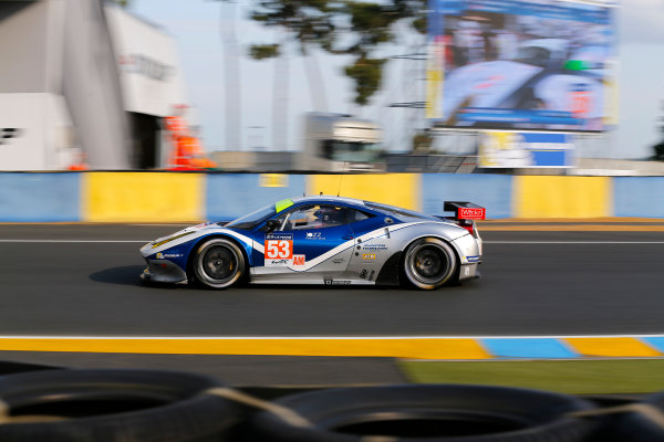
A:
POLYGON ((0 378, 3 442, 212 442, 243 419, 200 394, 220 382, 155 370, 46 370, 0 378))

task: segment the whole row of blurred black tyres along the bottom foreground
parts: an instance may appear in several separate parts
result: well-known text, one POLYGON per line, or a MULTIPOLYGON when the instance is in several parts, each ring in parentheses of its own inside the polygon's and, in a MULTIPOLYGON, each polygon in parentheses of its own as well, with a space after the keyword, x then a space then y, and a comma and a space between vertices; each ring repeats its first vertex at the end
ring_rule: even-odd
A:
POLYGON ((34 367, 0 376, 0 442, 664 441, 664 392, 593 399, 404 385, 284 393, 176 371, 34 367))

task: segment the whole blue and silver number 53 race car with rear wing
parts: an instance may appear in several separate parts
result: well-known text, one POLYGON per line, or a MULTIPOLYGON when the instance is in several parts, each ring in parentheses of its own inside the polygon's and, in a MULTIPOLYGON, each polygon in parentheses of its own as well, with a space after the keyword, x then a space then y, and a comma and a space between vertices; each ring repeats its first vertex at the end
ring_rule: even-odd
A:
POLYGON ((278 201, 145 244, 146 282, 396 285, 435 290, 478 277, 486 210, 446 201, 449 218, 343 197, 278 201))

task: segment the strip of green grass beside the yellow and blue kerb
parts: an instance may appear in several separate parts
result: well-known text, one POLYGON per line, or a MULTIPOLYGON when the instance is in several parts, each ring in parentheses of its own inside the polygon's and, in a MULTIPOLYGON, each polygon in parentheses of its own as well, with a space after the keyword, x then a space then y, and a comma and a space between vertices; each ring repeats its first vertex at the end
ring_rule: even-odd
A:
POLYGON ((411 382, 480 383, 572 394, 664 390, 664 359, 400 361, 411 382))

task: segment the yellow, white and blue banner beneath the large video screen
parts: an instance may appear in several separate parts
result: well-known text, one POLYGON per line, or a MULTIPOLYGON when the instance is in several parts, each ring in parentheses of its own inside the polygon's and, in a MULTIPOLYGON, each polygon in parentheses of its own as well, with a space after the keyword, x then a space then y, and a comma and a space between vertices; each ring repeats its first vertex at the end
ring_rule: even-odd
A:
POLYGON ((479 143, 479 167, 573 167, 571 134, 485 131, 479 143))

